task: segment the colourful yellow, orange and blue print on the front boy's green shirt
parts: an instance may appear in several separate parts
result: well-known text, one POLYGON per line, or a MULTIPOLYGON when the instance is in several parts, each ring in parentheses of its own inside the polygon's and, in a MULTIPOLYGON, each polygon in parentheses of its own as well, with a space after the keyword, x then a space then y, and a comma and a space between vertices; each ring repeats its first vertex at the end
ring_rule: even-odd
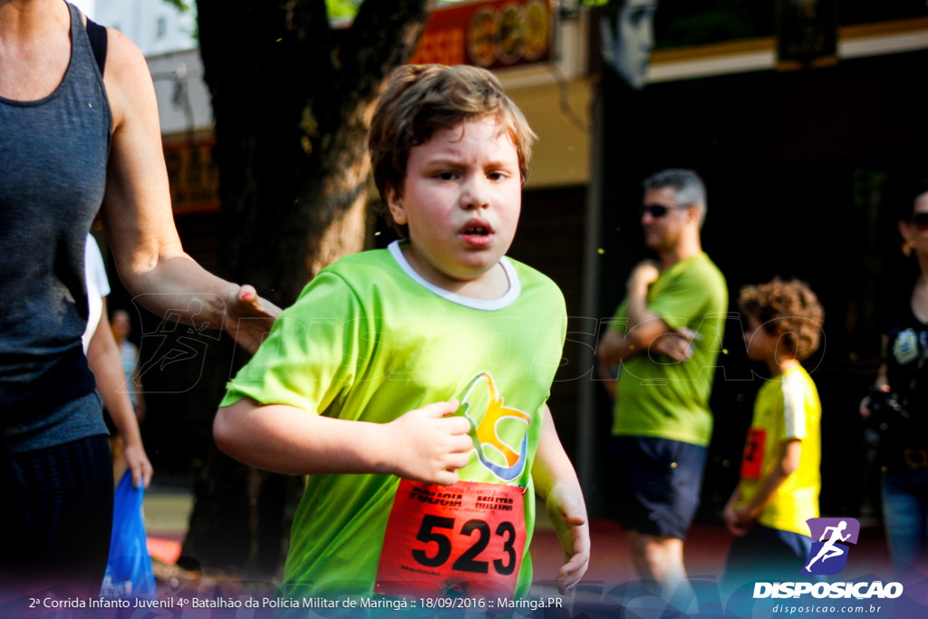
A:
MULTIPOLYGON (((517 408, 504 406, 505 402, 497 395, 496 382, 489 372, 482 372, 471 379, 459 399, 461 405, 457 414, 470 421, 473 448, 480 464, 492 471, 498 480, 517 480, 525 471, 528 458, 531 416, 517 408)), ((462 480, 469 480, 470 468, 469 465, 458 471, 462 480)))

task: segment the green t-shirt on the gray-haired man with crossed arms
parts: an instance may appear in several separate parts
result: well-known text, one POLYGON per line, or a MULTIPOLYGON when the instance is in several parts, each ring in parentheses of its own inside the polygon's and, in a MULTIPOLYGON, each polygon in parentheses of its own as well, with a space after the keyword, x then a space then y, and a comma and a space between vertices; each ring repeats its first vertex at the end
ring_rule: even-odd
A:
MULTIPOLYGON (((728 316, 725 277, 700 252, 662 271, 648 290, 646 304, 668 327, 686 327, 698 334, 697 339, 686 361, 647 351, 625 359, 616 387, 612 434, 709 445, 709 395, 728 316)), ((615 312, 612 329, 626 335, 627 324, 625 300, 615 312)))

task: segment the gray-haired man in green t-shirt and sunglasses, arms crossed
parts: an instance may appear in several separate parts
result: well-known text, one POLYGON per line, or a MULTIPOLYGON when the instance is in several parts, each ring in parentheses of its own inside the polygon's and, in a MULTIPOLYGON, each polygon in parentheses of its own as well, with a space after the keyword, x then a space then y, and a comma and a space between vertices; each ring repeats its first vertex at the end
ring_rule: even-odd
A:
POLYGON ((641 226, 658 262, 638 264, 628 278, 598 354, 601 373, 621 364, 611 451, 616 504, 623 506, 618 520, 632 561, 665 593, 685 593, 683 538, 712 436, 709 394, 728 290, 702 252, 702 179, 690 170, 664 170, 647 178, 644 189, 641 226))

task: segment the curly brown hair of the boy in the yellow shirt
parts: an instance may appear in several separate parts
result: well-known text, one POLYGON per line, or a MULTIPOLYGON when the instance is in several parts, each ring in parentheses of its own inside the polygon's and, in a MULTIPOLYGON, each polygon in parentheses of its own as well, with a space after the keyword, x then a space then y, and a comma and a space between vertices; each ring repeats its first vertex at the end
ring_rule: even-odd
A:
POLYGON ((782 336, 800 361, 818 350, 825 310, 806 282, 774 277, 766 284, 743 286, 738 306, 768 333, 782 336))

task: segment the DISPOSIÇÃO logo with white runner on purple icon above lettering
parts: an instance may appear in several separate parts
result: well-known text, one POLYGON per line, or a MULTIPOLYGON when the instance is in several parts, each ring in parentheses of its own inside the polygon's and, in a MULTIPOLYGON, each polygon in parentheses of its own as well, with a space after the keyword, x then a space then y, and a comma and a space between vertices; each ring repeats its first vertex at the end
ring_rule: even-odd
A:
MULTIPOLYGON (((854 518, 810 518, 806 521, 812 534, 812 548, 800 575, 838 574, 847 565, 849 544, 857 544, 860 522, 854 518), (818 541, 816 541, 818 540, 818 541)), ((900 583, 874 582, 777 582, 754 583, 754 599, 813 598, 866 600, 894 599, 902 595, 900 583)))

